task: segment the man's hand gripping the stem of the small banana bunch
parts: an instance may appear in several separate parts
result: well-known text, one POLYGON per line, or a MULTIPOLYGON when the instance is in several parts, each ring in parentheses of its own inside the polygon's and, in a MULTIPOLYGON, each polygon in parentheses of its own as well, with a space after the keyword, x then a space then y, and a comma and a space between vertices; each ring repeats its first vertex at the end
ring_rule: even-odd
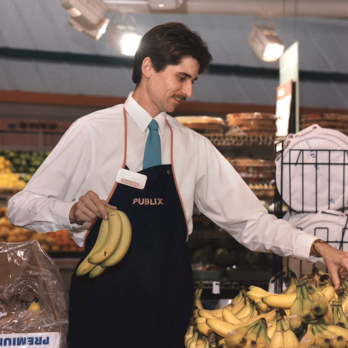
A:
POLYGON ((100 199, 95 192, 88 191, 71 207, 69 221, 82 225, 84 222, 92 222, 96 217, 106 220, 108 213, 105 206, 117 209, 117 207, 107 204, 104 199, 100 199))

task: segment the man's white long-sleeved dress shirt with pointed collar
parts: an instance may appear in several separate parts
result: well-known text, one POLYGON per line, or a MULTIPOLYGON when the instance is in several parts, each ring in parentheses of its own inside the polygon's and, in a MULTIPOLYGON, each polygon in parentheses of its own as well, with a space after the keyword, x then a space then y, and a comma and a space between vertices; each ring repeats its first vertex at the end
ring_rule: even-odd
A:
MULTIPOLYGON (((127 161, 131 171, 142 170, 151 116, 129 94, 125 104, 93 112, 76 120, 62 136, 25 188, 8 203, 8 218, 16 226, 38 232, 67 229, 83 246, 89 223, 69 222, 72 205, 88 190, 107 199, 124 159, 124 114, 127 111, 127 161)), ((162 164, 171 162, 192 232, 192 211, 201 213, 226 230, 240 244, 258 252, 274 252, 307 261, 315 236, 283 219, 260 203, 243 179, 204 136, 161 112, 156 116, 162 164)))

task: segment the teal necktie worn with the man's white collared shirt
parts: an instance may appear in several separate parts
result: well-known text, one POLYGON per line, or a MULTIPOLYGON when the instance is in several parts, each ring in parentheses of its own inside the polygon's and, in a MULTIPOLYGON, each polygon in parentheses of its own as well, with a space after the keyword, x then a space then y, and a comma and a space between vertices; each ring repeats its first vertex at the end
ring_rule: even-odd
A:
POLYGON ((148 128, 150 131, 145 144, 143 169, 161 164, 161 140, 156 120, 152 119, 148 128))

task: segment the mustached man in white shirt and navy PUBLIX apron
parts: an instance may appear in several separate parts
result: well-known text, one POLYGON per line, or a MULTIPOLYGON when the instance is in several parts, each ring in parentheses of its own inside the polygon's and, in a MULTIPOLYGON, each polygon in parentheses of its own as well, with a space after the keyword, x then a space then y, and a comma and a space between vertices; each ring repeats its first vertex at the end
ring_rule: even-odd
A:
MULTIPOLYGON (((316 260, 310 256, 314 236, 268 214, 205 137, 167 114, 191 97, 211 60, 205 42, 187 26, 151 29, 135 54, 136 88, 125 104, 74 122, 9 202, 11 223, 41 232, 68 229, 85 246, 82 259, 94 245, 101 218, 107 218, 105 205, 129 217, 132 243, 124 259, 94 279, 72 277, 71 348, 183 347, 193 298, 186 239, 194 203, 254 251, 316 260), (152 119, 161 158, 143 167, 152 119), (117 182, 117 174, 130 172, 145 176, 143 189, 117 182)), ((324 243, 316 243, 315 252, 324 257, 337 288, 348 254, 324 243)))

